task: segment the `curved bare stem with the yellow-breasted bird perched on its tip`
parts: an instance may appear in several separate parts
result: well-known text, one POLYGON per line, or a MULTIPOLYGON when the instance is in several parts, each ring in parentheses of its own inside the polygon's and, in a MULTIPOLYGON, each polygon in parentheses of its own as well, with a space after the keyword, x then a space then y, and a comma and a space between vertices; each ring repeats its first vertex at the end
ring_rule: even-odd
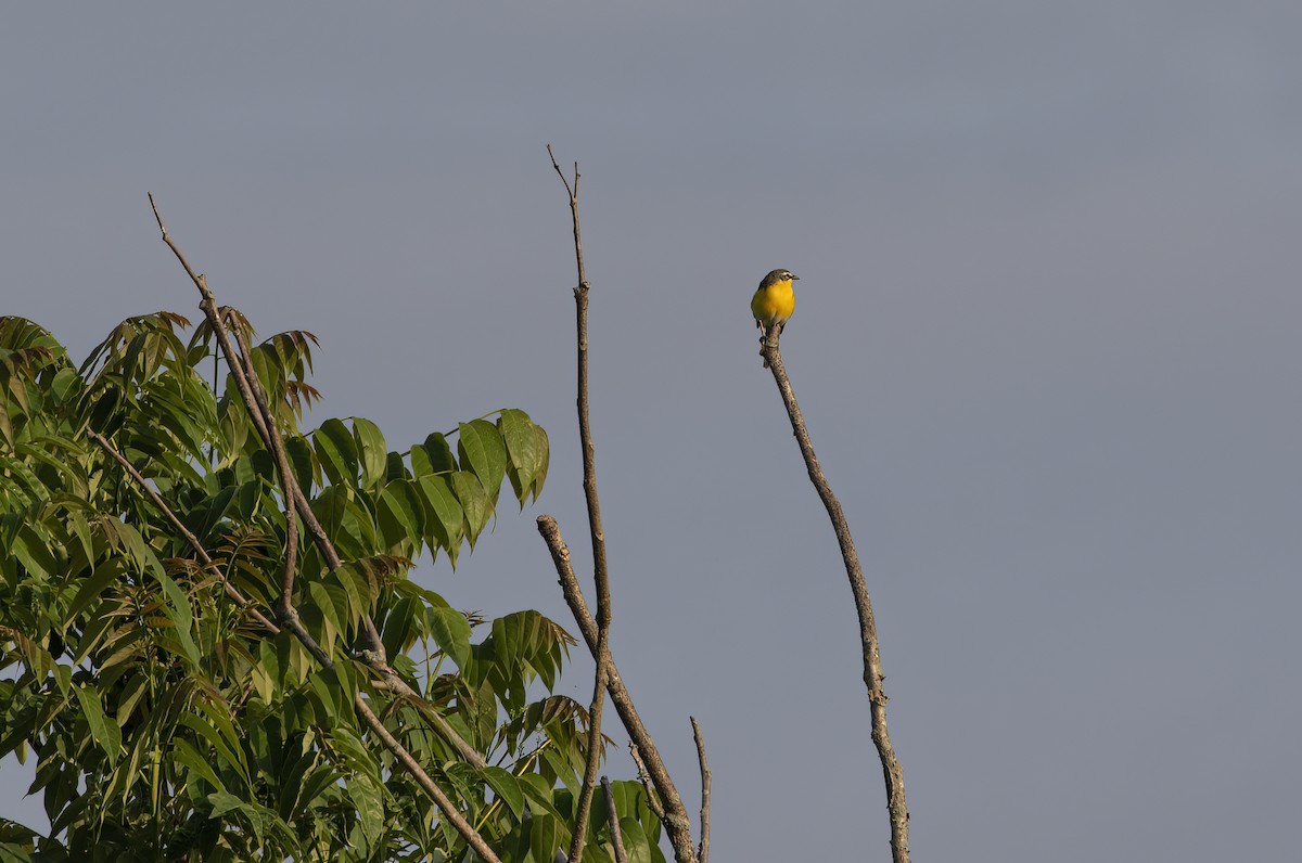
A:
POLYGON ((854 539, 850 536, 850 526, 841 510, 841 504, 832 487, 823 475, 823 469, 814 454, 814 444, 810 443, 809 428, 801 415, 799 405, 796 404, 796 393, 792 390, 792 381, 786 376, 786 367, 783 366, 783 351, 779 348, 780 328, 773 328, 766 333, 760 354, 768 362, 777 381, 777 390, 783 396, 786 406, 786 415, 792 420, 792 430, 796 432, 796 441, 805 457, 805 466, 809 469, 810 482, 818 491, 828 518, 832 519, 832 530, 836 531, 836 541, 841 547, 841 558, 845 562, 845 573, 850 579, 850 592, 854 595, 854 608, 859 614, 859 640, 863 646, 863 682, 868 689, 868 713, 872 719, 872 743, 878 748, 878 758, 881 760, 881 773, 887 788, 887 810, 891 817, 891 858, 893 863, 909 863, 909 807, 904 794, 904 768, 896 758, 894 747, 891 745, 891 734, 887 730, 887 694, 881 685, 885 674, 881 672, 881 651, 878 643, 878 623, 872 614, 872 601, 868 599, 868 587, 863 579, 863 568, 859 565, 859 555, 854 549, 854 539))

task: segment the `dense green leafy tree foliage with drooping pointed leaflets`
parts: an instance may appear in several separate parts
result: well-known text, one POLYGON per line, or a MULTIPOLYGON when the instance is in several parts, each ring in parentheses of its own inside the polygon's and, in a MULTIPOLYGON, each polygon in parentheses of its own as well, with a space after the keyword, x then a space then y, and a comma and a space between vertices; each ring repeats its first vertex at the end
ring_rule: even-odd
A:
MULTIPOLYGON (((78 367, 46 329, 0 318, 0 755, 35 756, 51 821, 40 836, 0 820, 0 860, 475 859, 359 721, 361 694, 503 860, 551 863, 587 747, 586 709, 553 691, 573 639, 533 610, 465 614, 408 578, 440 552, 456 565, 504 487, 519 506, 538 496, 546 432, 513 409, 404 450, 359 417, 303 430, 315 338, 254 348, 344 561, 331 569, 299 534, 293 605, 326 668, 229 599, 275 607, 285 500, 233 377, 214 380, 212 328, 187 328, 132 318, 78 367), (363 661, 367 618, 414 694, 363 661)), ((642 785, 616 782, 615 798, 617 817, 595 808, 587 859, 613 859, 613 820, 631 860, 663 860, 642 785)))

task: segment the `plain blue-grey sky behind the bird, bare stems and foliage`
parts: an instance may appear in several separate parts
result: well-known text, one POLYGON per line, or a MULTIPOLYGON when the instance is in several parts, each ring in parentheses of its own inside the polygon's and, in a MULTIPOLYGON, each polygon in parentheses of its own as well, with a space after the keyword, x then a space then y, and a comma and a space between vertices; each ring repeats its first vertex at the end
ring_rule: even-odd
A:
MULTIPOLYGON (((74 355, 223 302, 318 417, 552 436, 453 604, 573 622, 573 255, 625 681, 716 855, 884 859, 858 540, 918 860, 1285 859, 1302 803, 1295 3, 31 4, 0 13, 0 314, 74 355)), ((575 655, 577 656, 577 655, 575 655)), ((585 699, 577 656, 561 691, 585 699)), ((622 739, 622 738, 621 738, 622 739)), ((612 774, 629 776, 625 759, 612 774)), ((5 761, 0 814, 30 772, 5 761)))

